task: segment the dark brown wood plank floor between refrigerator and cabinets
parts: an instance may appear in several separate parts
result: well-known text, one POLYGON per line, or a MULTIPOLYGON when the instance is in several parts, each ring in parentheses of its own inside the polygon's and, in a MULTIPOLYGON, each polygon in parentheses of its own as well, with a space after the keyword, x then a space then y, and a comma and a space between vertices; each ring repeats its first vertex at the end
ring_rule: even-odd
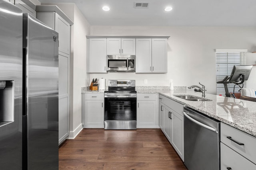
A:
POLYGON ((59 149, 60 170, 187 170, 160 129, 83 129, 59 149))

